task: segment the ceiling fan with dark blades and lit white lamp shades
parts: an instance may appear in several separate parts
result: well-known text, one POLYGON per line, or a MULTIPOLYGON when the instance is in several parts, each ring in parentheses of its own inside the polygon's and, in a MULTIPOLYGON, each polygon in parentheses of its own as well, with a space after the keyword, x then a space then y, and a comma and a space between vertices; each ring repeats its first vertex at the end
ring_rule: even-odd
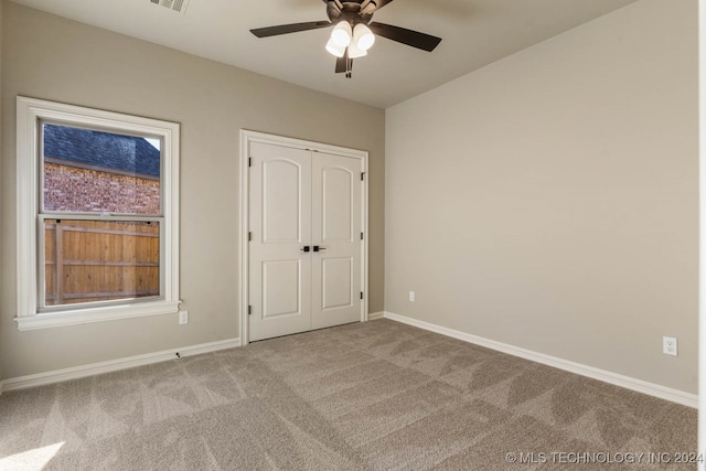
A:
POLYGON ((441 38, 418 31, 378 23, 376 21, 371 22, 373 20, 373 13, 392 1, 393 0, 323 0, 327 4, 329 21, 280 24, 278 26, 257 28, 250 30, 250 32, 257 38, 268 38, 334 26, 331 32, 331 39, 327 43, 327 51, 336 56, 335 73, 345 72, 345 76, 351 78, 353 60, 367 55, 367 50, 375 43, 375 35, 428 52, 434 51, 441 42, 441 38))

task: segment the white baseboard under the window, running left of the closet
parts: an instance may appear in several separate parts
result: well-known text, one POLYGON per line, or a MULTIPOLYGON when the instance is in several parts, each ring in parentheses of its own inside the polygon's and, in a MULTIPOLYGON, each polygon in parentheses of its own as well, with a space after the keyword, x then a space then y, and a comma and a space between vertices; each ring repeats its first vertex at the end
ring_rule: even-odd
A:
POLYGON ((81 377, 99 375, 104 373, 117 372, 119 370, 132 368, 136 366, 150 365, 165 362, 180 356, 192 356, 201 353, 217 352, 218 350, 240 346, 240 339, 228 339, 218 342, 202 343, 200 345, 184 346, 181 349, 164 350, 161 352, 148 353, 145 355, 129 356, 127 358, 110 360, 108 362, 92 363, 88 365, 74 366, 71 368, 56 370, 53 372, 39 373, 34 375, 20 376, 0 382, 0 394, 7 390, 24 389, 28 387, 44 386, 81 377))

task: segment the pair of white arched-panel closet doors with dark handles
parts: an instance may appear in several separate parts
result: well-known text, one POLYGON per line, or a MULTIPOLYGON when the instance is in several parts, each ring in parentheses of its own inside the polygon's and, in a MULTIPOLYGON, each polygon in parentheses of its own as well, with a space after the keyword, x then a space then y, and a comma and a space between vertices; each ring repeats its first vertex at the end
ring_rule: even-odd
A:
POLYGON ((361 320, 362 161, 250 143, 249 340, 361 320))

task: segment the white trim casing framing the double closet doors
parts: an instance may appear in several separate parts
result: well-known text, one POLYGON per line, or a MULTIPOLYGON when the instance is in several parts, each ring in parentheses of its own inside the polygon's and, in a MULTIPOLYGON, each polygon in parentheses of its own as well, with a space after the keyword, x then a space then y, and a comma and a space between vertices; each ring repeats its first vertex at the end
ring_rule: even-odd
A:
POLYGON ((275 146, 290 147, 295 149, 304 149, 321 151, 327 153, 333 153, 342 157, 350 157, 360 159, 362 163, 365 178, 363 180, 362 189, 362 202, 361 202, 361 227, 363 234, 365 234, 362 240, 361 247, 362 254, 362 270, 361 270, 361 286, 363 287, 363 302, 361 302, 361 322, 367 321, 367 300, 370 299, 370 290, 367 286, 367 246, 370 239, 370 232, 367 229, 367 189, 368 189, 368 170, 367 158, 368 153, 364 150, 350 149, 339 146, 331 146, 321 142, 307 141, 302 139, 288 138, 284 136, 269 135, 265 132, 252 131, 247 129, 240 129, 240 156, 239 156, 239 172, 240 172, 240 222, 239 222, 239 242, 238 250, 240 255, 239 264, 239 338, 242 345, 247 345, 249 342, 249 319, 248 319, 248 306, 249 306, 249 246, 248 246, 248 232, 250 221, 250 172, 248 170, 249 149, 252 142, 264 142, 275 146))

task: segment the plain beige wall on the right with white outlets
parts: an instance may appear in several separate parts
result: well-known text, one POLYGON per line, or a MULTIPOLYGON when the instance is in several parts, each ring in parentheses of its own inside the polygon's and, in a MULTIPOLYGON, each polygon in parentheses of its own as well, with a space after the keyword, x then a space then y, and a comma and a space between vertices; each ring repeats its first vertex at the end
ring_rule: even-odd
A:
POLYGON ((389 108, 386 310, 696 393, 697 92, 642 0, 389 108))

